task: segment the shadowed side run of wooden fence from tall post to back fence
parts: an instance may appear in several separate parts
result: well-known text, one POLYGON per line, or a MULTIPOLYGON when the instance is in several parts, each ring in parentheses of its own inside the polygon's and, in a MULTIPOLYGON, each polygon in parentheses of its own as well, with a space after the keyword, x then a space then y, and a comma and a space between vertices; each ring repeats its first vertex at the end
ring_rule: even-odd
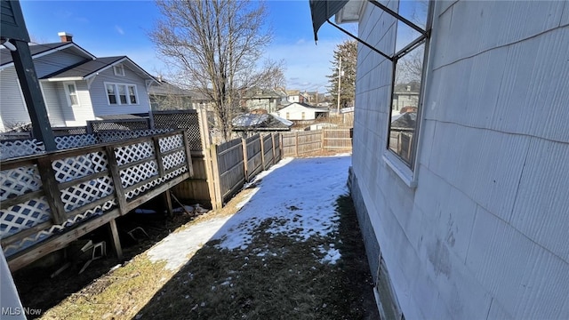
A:
POLYGON ((247 139, 212 145, 212 206, 220 208, 244 183, 281 159, 279 133, 255 134, 247 139))

